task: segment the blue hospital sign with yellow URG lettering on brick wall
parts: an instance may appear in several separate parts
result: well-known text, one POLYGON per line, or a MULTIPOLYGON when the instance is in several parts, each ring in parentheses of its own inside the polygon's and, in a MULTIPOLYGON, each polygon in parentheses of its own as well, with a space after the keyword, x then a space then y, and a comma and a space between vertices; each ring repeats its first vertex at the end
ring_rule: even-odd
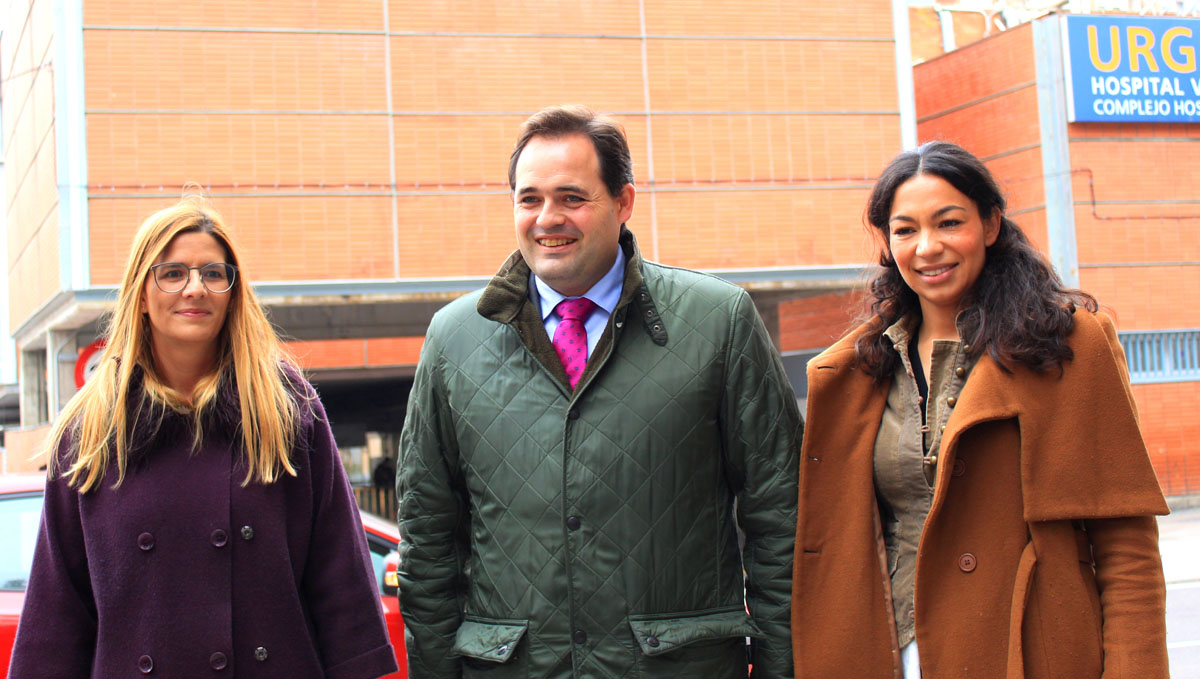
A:
POLYGON ((1200 122, 1200 19, 1064 19, 1068 121, 1200 122))

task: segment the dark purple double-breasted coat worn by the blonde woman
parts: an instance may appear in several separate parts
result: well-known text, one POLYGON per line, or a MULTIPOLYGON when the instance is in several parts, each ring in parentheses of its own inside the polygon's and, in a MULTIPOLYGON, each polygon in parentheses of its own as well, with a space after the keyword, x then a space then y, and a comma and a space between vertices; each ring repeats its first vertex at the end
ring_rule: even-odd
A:
POLYGON ((230 387, 198 452, 190 417, 168 410, 158 427, 138 419, 121 487, 115 467, 86 494, 47 481, 10 678, 359 679, 396 669, 325 410, 299 384, 311 399, 298 417, 295 477, 242 487, 230 387))

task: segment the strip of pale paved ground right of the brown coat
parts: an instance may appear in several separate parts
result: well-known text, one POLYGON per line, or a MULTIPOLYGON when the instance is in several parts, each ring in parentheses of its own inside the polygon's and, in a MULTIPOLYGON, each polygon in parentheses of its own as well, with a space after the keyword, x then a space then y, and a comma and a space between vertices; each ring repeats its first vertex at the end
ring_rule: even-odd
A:
POLYGON ((1158 519, 1172 679, 1200 679, 1200 507, 1158 519))

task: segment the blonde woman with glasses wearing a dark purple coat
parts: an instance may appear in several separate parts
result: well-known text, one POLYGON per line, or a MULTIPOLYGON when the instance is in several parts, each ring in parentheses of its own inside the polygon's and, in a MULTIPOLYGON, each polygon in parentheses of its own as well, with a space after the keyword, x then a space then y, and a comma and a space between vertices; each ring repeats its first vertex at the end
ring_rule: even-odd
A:
POLYGON ((10 677, 394 672, 324 409, 203 200, 138 229, 107 340, 50 435, 10 677))

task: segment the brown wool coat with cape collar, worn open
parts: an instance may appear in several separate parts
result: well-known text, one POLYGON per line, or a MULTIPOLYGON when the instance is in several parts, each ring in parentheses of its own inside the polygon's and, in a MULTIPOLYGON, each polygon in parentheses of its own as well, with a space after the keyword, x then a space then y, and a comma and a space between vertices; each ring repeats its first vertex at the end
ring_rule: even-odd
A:
MULTIPOLYGON (((796 679, 902 677, 871 467, 888 385, 853 367, 862 332, 808 367, 796 679)), ((917 560, 923 679, 1168 677, 1168 510, 1124 353, 1103 314, 1069 342, 1061 375, 984 354, 954 405, 917 560)))

